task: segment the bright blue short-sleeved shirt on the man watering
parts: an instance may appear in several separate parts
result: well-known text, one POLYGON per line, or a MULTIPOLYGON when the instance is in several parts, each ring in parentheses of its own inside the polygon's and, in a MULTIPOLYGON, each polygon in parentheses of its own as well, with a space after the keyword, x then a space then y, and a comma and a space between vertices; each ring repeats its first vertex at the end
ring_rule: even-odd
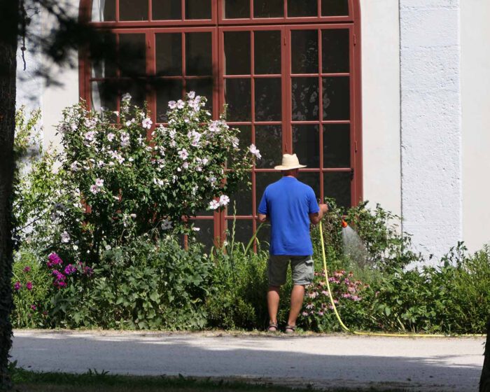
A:
POLYGON ((309 214, 320 211, 311 186, 283 177, 265 188, 258 207, 271 223, 271 255, 311 255, 309 214))

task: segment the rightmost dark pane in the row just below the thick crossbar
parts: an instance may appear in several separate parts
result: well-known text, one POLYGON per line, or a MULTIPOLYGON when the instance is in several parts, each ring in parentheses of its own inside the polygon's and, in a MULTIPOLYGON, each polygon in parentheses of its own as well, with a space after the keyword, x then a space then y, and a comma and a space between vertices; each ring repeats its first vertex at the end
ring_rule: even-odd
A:
POLYGON ((349 30, 321 31, 322 72, 349 72, 349 30))

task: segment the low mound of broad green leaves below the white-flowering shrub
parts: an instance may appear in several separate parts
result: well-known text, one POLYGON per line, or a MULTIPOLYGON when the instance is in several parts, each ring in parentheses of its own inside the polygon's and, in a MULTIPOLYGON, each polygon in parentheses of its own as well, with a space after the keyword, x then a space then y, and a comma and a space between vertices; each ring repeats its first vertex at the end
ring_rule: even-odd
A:
POLYGON ((67 328, 204 328, 211 267, 199 244, 186 251, 171 236, 137 238, 106 249, 87 284, 59 291, 52 321, 67 328))

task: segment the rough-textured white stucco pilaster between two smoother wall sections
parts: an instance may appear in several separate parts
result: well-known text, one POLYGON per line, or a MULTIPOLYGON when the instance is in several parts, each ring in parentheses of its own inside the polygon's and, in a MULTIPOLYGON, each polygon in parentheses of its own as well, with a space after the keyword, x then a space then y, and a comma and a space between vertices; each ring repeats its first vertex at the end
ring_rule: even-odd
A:
POLYGON ((436 259, 462 236, 459 4, 400 0, 403 229, 436 259))

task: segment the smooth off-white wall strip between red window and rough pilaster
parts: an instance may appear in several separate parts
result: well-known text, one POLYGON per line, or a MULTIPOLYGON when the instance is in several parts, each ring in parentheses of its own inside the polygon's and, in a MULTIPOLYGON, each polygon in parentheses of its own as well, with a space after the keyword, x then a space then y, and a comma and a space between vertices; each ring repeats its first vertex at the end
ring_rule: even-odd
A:
POLYGON ((398 1, 361 0, 364 199, 401 214, 398 1))

